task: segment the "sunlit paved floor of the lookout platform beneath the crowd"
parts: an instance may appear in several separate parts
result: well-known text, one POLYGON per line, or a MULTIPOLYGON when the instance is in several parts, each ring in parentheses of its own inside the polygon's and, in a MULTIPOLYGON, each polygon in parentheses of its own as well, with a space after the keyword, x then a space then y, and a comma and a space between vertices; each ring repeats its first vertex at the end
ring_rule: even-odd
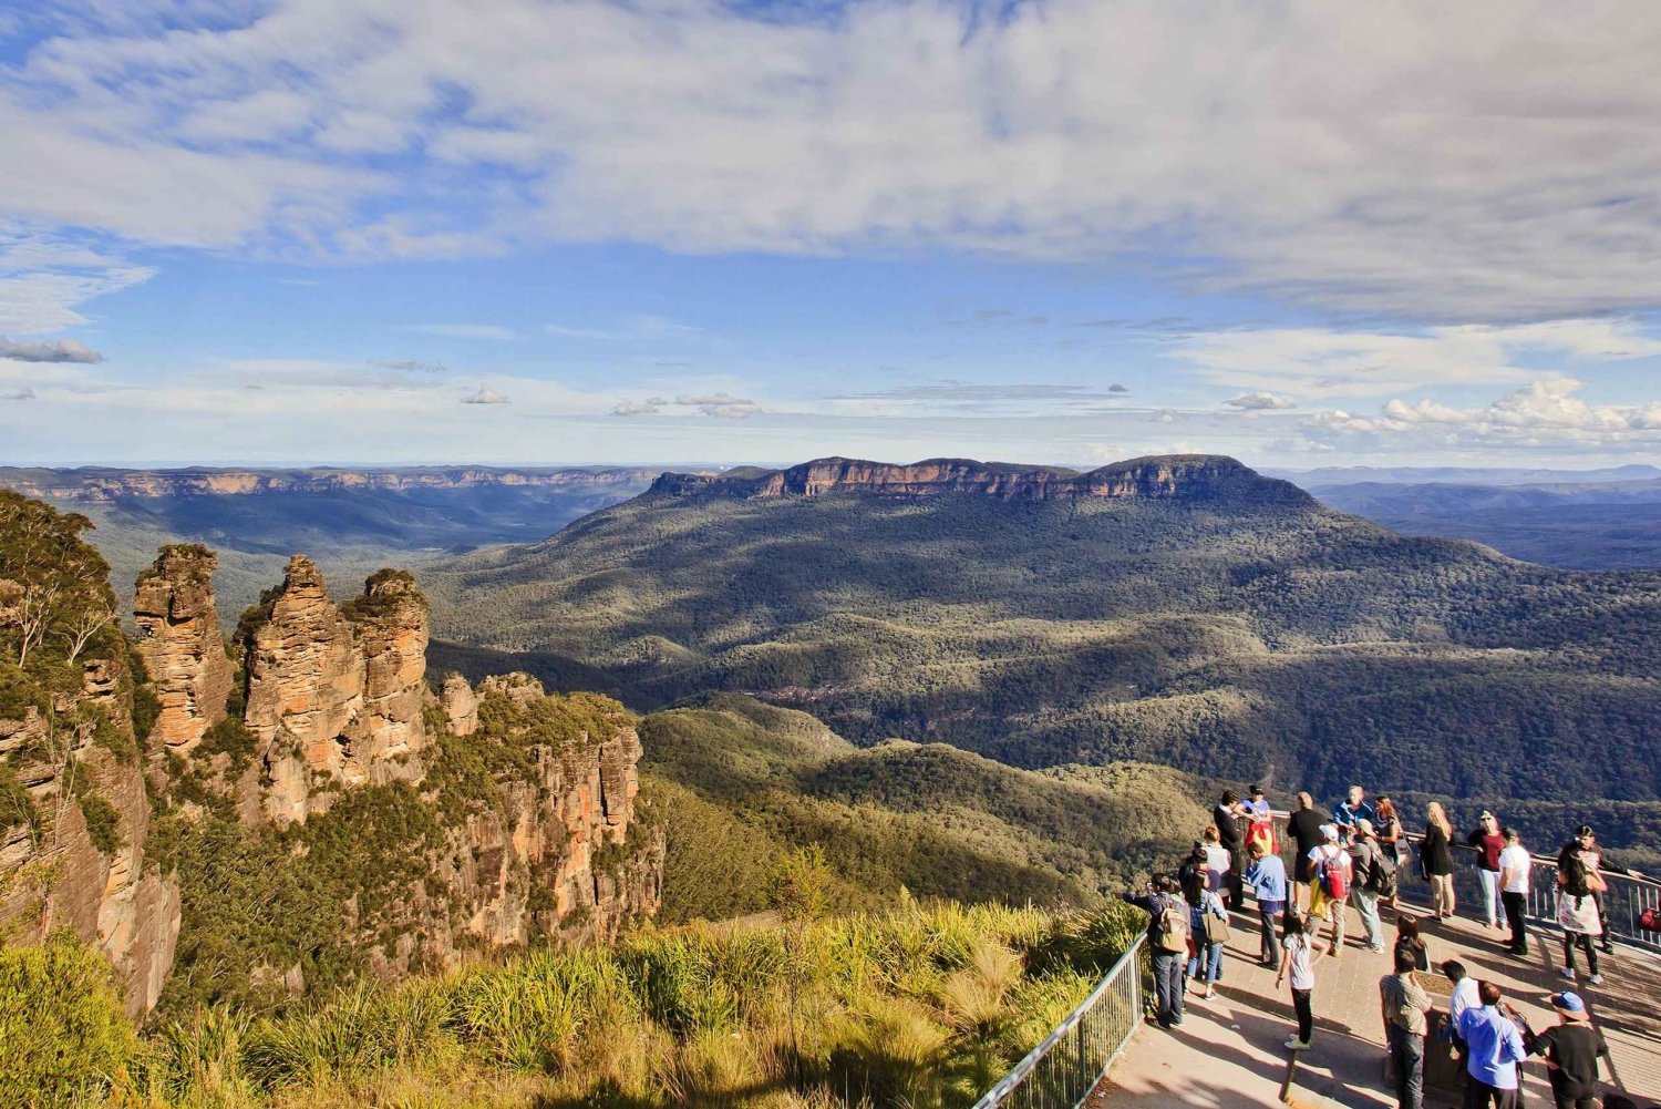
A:
MULTIPOLYGON (((1176 1029, 1144 1024, 1088 1104, 1279 1106, 1282 1084, 1291 1081, 1286 1099, 1294 1106, 1394 1109, 1395 1097, 1384 1086, 1379 1018, 1379 978, 1389 973, 1390 956, 1357 946, 1360 934, 1360 919, 1350 913, 1344 954, 1317 961, 1314 1047, 1299 1052, 1292 1069, 1292 1052, 1282 1046, 1294 1031, 1291 996, 1284 986, 1277 993, 1274 974, 1257 966, 1256 916, 1236 914, 1218 998, 1203 1001, 1191 991, 1188 1018, 1176 1029)), ((1568 983, 1558 978, 1561 944, 1553 934, 1536 939, 1526 961, 1507 954, 1505 933, 1465 919, 1428 924, 1425 934, 1433 966, 1458 959, 1477 978, 1498 981, 1535 1029, 1556 1023, 1546 998, 1568 983)), ((1394 916, 1385 911, 1385 943, 1394 936, 1394 916)), ((1661 1102, 1661 958, 1618 949, 1603 963, 1603 986, 1581 981, 1576 989, 1610 1041, 1619 1087, 1648 1109, 1661 1102)), ((1526 1064, 1523 1089, 1525 1104, 1551 1106, 1540 1059, 1526 1064)), ((1438 1101, 1427 1096, 1427 1104, 1438 1101)))

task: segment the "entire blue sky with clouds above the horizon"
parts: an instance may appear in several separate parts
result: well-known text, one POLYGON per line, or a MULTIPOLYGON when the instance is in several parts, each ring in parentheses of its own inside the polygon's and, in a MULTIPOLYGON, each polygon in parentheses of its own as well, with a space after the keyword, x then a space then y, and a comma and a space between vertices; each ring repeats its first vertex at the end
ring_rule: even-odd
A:
POLYGON ((0 464, 1661 462, 1661 7, 0 0, 0 464))

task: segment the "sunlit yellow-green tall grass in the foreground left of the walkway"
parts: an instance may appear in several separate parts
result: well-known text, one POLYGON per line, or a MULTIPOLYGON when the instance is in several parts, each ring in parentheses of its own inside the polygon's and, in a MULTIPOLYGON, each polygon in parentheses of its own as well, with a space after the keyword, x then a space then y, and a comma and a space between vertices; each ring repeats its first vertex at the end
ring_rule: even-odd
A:
MULTIPOLYGON (((1120 909, 1105 913, 1116 916, 1120 909)), ((972 1102, 1076 1004, 1121 926, 900 903, 771 926, 646 928, 251 1021, 149 1036, 151 1109, 972 1102)))

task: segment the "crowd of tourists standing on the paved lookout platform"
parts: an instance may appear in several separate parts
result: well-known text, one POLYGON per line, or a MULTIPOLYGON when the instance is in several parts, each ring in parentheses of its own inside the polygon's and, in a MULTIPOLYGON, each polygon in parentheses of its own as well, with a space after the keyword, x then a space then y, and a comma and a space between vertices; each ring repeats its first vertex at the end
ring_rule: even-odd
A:
MULTIPOLYGON (((1384 953, 1384 913, 1395 919, 1390 944, 1392 971, 1379 983, 1379 1006, 1390 1056, 1397 1102, 1420 1109, 1425 1049, 1432 1036, 1450 1044, 1462 1061, 1467 1109, 1516 1109, 1521 1071, 1528 1056, 1541 1056, 1558 1109, 1593 1109, 1598 1097, 1598 1059, 1608 1046, 1593 1029, 1585 998, 1575 989, 1551 996, 1555 1028, 1535 1033, 1510 1006, 1500 984, 1477 981, 1458 961, 1438 969, 1452 983, 1445 1011, 1433 1011, 1417 974, 1430 971, 1425 924, 1455 914, 1455 843, 1475 855, 1480 883, 1478 918, 1485 928, 1505 933, 1507 951, 1523 959, 1530 953, 1528 900, 1535 860, 1521 833, 1483 811, 1465 836, 1457 836, 1442 805, 1425 806, 1425 831, 1409 835, 1402 813, 1389 796, 1369 800, 1350 786, 1330 813, 1316 808, 1309 793, 1297 795, 1282 833, 1261 786, 1249 798, 1224 791, 1211 811, 1193 851, 1173 873, 1153 875, 1146 890, 1124 898, 1149 916, 1148 948, 1153 959, 1154 1019, 1161 1028, 1183 1023, 1189 983, 1216 994, 1222 978, 1222 946, 1229 939, 1229 911, 1247 913, 1247 893, 1261 936, 1259 961, 1274 971, 1276 989, 1289 986, 1297 1031, 1286 1047, 1309 1051, 1314 1044, 1314 996, 1322 959, 1344 958, 1349 909, 1360 919, 1365 951, 1384 953), (1289 848, 1289 851, 1287 851, 1289 848), (1291 875, 1284 855, 1291 855, 1291 875), (1417 866, 1430 886, 1427 913, 1400 903, 1400 868, 1417 866), (1322 931, 1327 939, 1322 941, 1322 931)), ((1605 875, 1641 876, 1611 865, 1596 833, 1581 826, 1556 855, 1555 909, 1561 926, 1561 968, 1580 984, 1576 954, 1586 963, 1586 986, 1600 986, 1600 949, 1611 951, 1603 893, 1605 875)), ((1605 1101, 1605 1107, 1611 1101, 1605 1101)), ((1619 1104, 1619 1102, 1613 1102, 1619 1104)))

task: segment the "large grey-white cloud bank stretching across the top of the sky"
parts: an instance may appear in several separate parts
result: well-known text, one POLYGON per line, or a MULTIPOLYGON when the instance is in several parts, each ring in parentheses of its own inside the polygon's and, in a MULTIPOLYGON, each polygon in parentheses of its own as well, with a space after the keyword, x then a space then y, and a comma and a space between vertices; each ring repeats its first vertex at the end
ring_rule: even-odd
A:
POLYGON ((85 5, 0 73, 10 211, 301 253, 1131 254, 1458 319, 1661 304, 1644 0, 271 0, 163 33, 179 10, 85 5))

